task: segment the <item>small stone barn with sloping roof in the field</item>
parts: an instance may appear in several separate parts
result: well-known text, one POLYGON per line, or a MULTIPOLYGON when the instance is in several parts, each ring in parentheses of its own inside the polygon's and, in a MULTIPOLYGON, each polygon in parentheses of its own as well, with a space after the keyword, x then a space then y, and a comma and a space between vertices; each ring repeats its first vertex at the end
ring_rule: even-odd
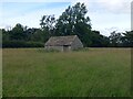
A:
POLYGON ((45 50, 58 50, 61 52, 78 50, 81 47, 83 47, 83 44, 76 35, 52 36, 44 44, 45 50))

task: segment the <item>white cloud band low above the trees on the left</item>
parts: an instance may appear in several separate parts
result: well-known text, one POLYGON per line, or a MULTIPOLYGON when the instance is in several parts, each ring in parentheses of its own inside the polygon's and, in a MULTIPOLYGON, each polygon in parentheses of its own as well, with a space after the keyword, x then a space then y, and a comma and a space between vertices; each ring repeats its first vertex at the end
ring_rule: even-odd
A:
POLYGON ((2 18, 2 23, 0 23, 0 28, 14 26, 17 23, 21 23, 22 25, 28 25, 30 28, 40 28, 39 23, 41 16, 43 16, 44 14, 54 14, 55 18, 58 18, 61 14, 61 12, 64 10, 65 7, 62 7, 57 9, 38 10, 34 12, 24 13, 17 16, 16 15, 9 18, 6 16, 2 18))

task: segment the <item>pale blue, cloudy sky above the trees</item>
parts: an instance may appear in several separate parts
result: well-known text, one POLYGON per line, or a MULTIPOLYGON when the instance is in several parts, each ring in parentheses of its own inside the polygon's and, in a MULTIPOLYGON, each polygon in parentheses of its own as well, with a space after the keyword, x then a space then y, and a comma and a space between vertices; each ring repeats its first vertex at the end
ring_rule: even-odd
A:
POLYGON ((54 14, 58 19, 69 6, 76 2, 85 3, 92 30, 106 36, 113 31, 131 30, 132 0, 1 0, 0 29, 13 28, 17 23, 40 28, 44 14, 54 14))

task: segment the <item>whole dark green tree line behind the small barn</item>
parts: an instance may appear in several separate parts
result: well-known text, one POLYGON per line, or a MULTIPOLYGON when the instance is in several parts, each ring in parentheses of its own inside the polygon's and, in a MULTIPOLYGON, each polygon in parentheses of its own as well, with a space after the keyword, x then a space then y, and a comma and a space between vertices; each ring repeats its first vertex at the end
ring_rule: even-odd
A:
POLYGON ((69 6, 55 19, 54 15, 43 15, 41 28, 28 28, 18 23, 11 30, 2 31, 2 47, 42 47, 51 36, 78 35, 85 47, 132 47, 133 31, 116 33, 110 36, 102 35, 100 31, 92 30, 91 20, 86 16, 84 3, 78 2, 69 6))

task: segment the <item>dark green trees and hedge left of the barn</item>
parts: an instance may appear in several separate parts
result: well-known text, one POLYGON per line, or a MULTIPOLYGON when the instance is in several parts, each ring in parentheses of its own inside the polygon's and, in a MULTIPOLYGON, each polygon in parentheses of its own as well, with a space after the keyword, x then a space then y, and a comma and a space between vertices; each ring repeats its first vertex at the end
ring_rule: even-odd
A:
POLYGON ((49 34, 40 29, 24 29, 17 24, 12 30, 2 30, 2 47, 43 47, 49 34))

